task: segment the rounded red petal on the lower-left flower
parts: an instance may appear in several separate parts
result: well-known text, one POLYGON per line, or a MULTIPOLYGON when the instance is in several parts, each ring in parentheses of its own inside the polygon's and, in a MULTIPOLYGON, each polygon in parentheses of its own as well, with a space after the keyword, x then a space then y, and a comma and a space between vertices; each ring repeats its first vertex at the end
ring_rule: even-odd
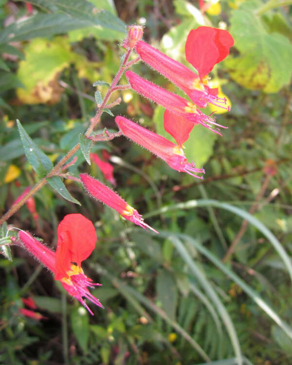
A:
POLYGON ((90 256, 96 242, 92 222, 81 214, 65 216, 58 225, 57 236, 55 279, 70 269, 71 262, 80 266, 81 261, 90 256))

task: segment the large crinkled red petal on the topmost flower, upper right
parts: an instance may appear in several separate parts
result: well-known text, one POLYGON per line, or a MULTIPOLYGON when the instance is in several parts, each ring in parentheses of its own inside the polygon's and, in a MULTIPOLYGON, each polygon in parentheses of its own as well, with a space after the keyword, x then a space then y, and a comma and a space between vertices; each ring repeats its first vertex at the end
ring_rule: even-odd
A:
POLYGON ((198 71, 201 80, 221 62, 234 45, 231 34, 223 29, 199 27, 190 31, 185 42, 185 57, 198 71))

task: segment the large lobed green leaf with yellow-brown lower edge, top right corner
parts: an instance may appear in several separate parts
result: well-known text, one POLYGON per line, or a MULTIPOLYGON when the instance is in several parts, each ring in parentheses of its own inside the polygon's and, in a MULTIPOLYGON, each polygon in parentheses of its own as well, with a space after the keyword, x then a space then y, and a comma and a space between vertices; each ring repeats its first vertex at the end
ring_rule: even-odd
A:
POLYGON ((277 92, 290 83, 292 45, 281 34, 267 33, 255 6, 253 1, 245 1, 233 12, 230 33, 240 55, 224 64, 234 80, 247 89, 277 92))

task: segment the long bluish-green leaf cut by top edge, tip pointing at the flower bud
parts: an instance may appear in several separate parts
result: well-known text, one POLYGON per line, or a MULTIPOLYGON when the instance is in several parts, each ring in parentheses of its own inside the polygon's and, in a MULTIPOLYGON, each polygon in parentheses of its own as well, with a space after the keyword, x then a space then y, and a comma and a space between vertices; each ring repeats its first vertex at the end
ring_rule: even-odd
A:
POLYGON ((125 23, 109 11, 98 9, 86 0, 33 0, 31 3, 49 12, 61 11, 74 19, 83 20, 88 26, 103 26, 119 32, 126 32, 125 23))

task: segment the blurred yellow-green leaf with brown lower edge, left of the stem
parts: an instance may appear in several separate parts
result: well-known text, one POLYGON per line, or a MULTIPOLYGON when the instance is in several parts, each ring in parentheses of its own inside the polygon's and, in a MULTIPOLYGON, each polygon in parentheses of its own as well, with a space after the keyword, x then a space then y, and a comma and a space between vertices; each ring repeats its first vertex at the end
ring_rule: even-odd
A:
POLYGON ((17 89, 19 100, 25 104, 55 104, 64 91, 58 84, 61 71, 75 63, 79 77, 95 81, 98 73, 93 64, 82 55, 75 54, 66 37, 53 40, 37 38, 24 50, 25 60, 19 62, 18 78, 25 89, 17 89))

